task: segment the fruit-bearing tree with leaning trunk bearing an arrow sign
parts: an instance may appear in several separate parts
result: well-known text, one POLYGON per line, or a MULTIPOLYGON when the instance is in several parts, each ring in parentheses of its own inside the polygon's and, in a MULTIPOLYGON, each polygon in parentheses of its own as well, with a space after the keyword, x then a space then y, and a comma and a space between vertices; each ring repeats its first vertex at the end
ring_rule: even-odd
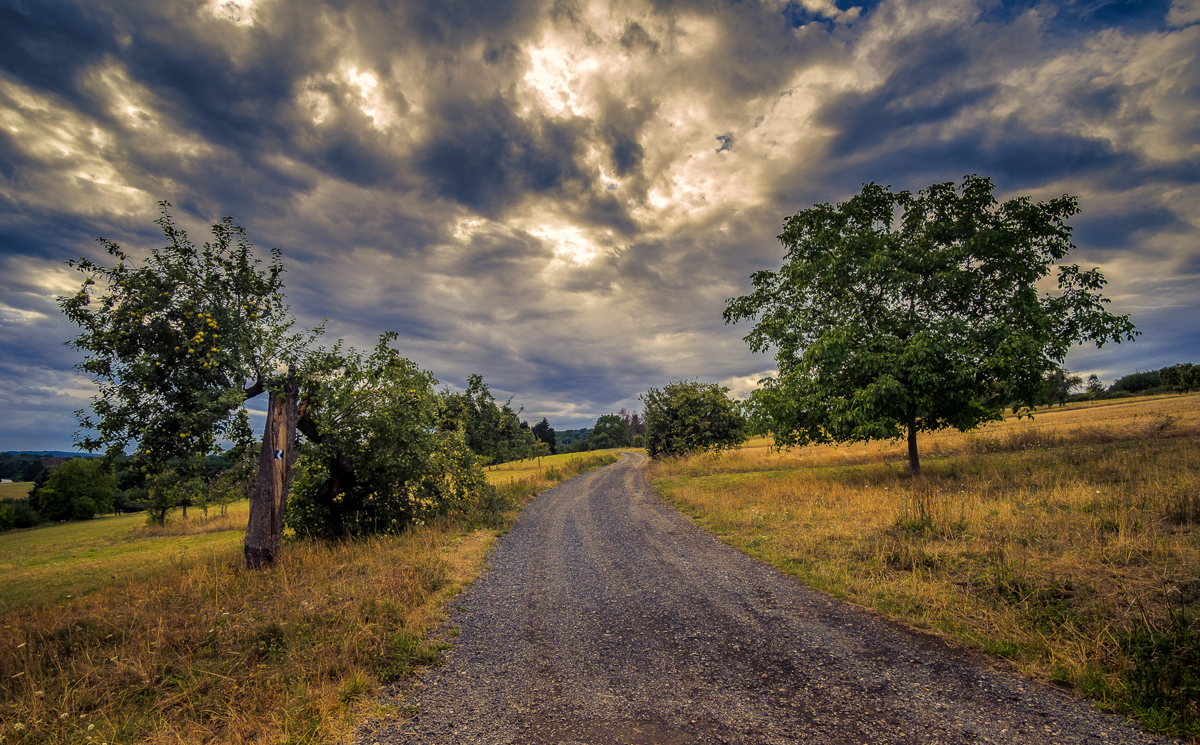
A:
MULTIPOLYGON (((302 405, 300 366, 320 329, 292 331, 277 250, 262 268, 246 232, 228 217, 198 247, 174 224, 169 206, 160 203, 157 221, 167 245, 143 262, 107 239, 100 241, 116 259, 113 266, 71 262, 85 280, 59 305, 80 326, 70 344, 85 354, 79 367, 100 386, 91 413, 77 413, 76 444, 120 452, 136 443, 150 471, 170 458, 193 463, 230 433, 247 399, 268 393, 244 543, 247 566, 263 566, 280 549, 302 405)), ((166 515, 161 507, 158 515, 166 515)))

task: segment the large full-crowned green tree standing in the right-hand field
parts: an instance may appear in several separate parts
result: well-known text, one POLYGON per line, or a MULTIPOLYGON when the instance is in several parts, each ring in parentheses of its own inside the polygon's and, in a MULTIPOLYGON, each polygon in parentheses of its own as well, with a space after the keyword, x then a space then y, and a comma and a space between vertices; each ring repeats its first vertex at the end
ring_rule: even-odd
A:
POLYGON ((1044 374, 1085 341, 1133 340, 1099 271, 1057 268, 1073 248, 1076 199, 997 204, 990 179, 967 176, 912 194, 866 184, 848 202, 788 217, 779 271, 730 299, 726 323, 776 350, 779 375, 750 398, 754 426, 779 447, 899 439, 920 473, 917 433, 967 431, 1033 407, 1044 374))

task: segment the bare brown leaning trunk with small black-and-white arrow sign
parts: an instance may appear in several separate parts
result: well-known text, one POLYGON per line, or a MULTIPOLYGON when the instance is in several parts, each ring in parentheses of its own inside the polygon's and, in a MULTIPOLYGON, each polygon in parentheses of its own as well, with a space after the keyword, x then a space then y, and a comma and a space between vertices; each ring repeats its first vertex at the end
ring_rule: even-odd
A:
POLYGON ((258 456, 258 479, 250 498, 250 523, 242 543, 247 569, 269 566, 280 555, 283 510, 296 457, 300 386, 294 373, 294 370, 289 371, 282 391, 270 392, 266 404, 263 451, 258 456))

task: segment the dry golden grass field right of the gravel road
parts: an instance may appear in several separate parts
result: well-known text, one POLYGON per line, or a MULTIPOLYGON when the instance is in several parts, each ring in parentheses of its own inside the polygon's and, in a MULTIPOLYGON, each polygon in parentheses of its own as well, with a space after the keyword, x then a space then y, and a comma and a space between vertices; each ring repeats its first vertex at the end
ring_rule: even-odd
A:
POLYGON ((814 588, 1200 738, 1200 396, 892 444, 649 467, 661 495, 814 588))

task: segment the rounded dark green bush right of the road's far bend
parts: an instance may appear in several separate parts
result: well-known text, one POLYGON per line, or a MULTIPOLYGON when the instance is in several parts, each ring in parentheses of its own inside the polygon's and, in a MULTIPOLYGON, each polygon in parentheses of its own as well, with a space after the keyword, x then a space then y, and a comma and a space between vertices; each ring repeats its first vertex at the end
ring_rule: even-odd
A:
POLYGON ((746 441, 746 420, 716 383, 673 380, 640 396, 646 404, 646 450, 652 458, 726 450, 746 441))

